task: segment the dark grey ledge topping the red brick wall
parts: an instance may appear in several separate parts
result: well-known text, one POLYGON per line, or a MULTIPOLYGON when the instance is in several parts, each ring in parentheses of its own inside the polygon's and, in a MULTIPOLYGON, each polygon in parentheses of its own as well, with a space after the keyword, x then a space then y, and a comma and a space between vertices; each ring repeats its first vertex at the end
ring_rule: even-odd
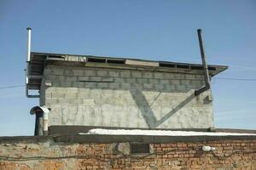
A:
POLYGON ((207 142, 218 140, 255 140, 256 136, 137 136, 137 135, 60 135, 60 136, 16 136, 16 137, 0 137, 0 144, 8 143, 44 143, 55 142, 64 144, 73 143, 177 143, 177 142, 207 142))

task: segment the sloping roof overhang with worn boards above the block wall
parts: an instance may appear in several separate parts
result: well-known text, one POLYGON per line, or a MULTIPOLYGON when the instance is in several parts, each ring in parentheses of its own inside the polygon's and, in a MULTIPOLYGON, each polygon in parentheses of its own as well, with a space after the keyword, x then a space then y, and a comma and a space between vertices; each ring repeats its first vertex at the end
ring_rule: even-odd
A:
MULTIPOLYGON (((203 74, 203 66, 200 64, 100 57, 92 55, 32 52, 28 71, 28 89, 40 89, 42 77, 44 75, 44 66, 49 64, 123 70, 176 72, 184 74, 203 74)), ((228 66, 225 65, 208 65, 208 70, 211 77, 225 71, 227 68, 228 66)))

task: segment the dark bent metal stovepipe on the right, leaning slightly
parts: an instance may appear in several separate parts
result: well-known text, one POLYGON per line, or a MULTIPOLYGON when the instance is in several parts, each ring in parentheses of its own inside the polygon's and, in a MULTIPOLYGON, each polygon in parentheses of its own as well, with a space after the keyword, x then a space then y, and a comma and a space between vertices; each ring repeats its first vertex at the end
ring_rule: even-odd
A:
POLYGON ((210 83, 210 77, 209 77, 209 71, 208 71, 208 66, 207 66, 207 59, 206 59, 206 55, 205 55, 205 50, 204 50, 204 45, 203 45, 203 41, 202 41, 202 36, 201 36, 201 29, 197 30, 197 36, 198 36, 198 40, 199 40, 199 47, 200 47, 200 53, 201 53, 201 61, 202 61, 202 65, 203 65, 203 69, 204 69, 204 76, 205 76, 205 86, 195 90, 195 95, 199 95, 205 91, 207 91, 208 89, 211 88, 211 83, 210 83))

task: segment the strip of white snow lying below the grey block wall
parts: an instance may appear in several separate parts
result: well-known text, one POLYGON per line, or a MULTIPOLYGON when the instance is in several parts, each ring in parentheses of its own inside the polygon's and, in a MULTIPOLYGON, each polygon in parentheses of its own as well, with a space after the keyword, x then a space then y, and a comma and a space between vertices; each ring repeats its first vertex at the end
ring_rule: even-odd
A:
POLYGON ((150 135, 150 136, 255 136, 256 133, 210 133, 172 130, 127 130, 127 129, 102 129, 93 128, 88 133, 79 134, 103 134, 103 135, 150 135))

